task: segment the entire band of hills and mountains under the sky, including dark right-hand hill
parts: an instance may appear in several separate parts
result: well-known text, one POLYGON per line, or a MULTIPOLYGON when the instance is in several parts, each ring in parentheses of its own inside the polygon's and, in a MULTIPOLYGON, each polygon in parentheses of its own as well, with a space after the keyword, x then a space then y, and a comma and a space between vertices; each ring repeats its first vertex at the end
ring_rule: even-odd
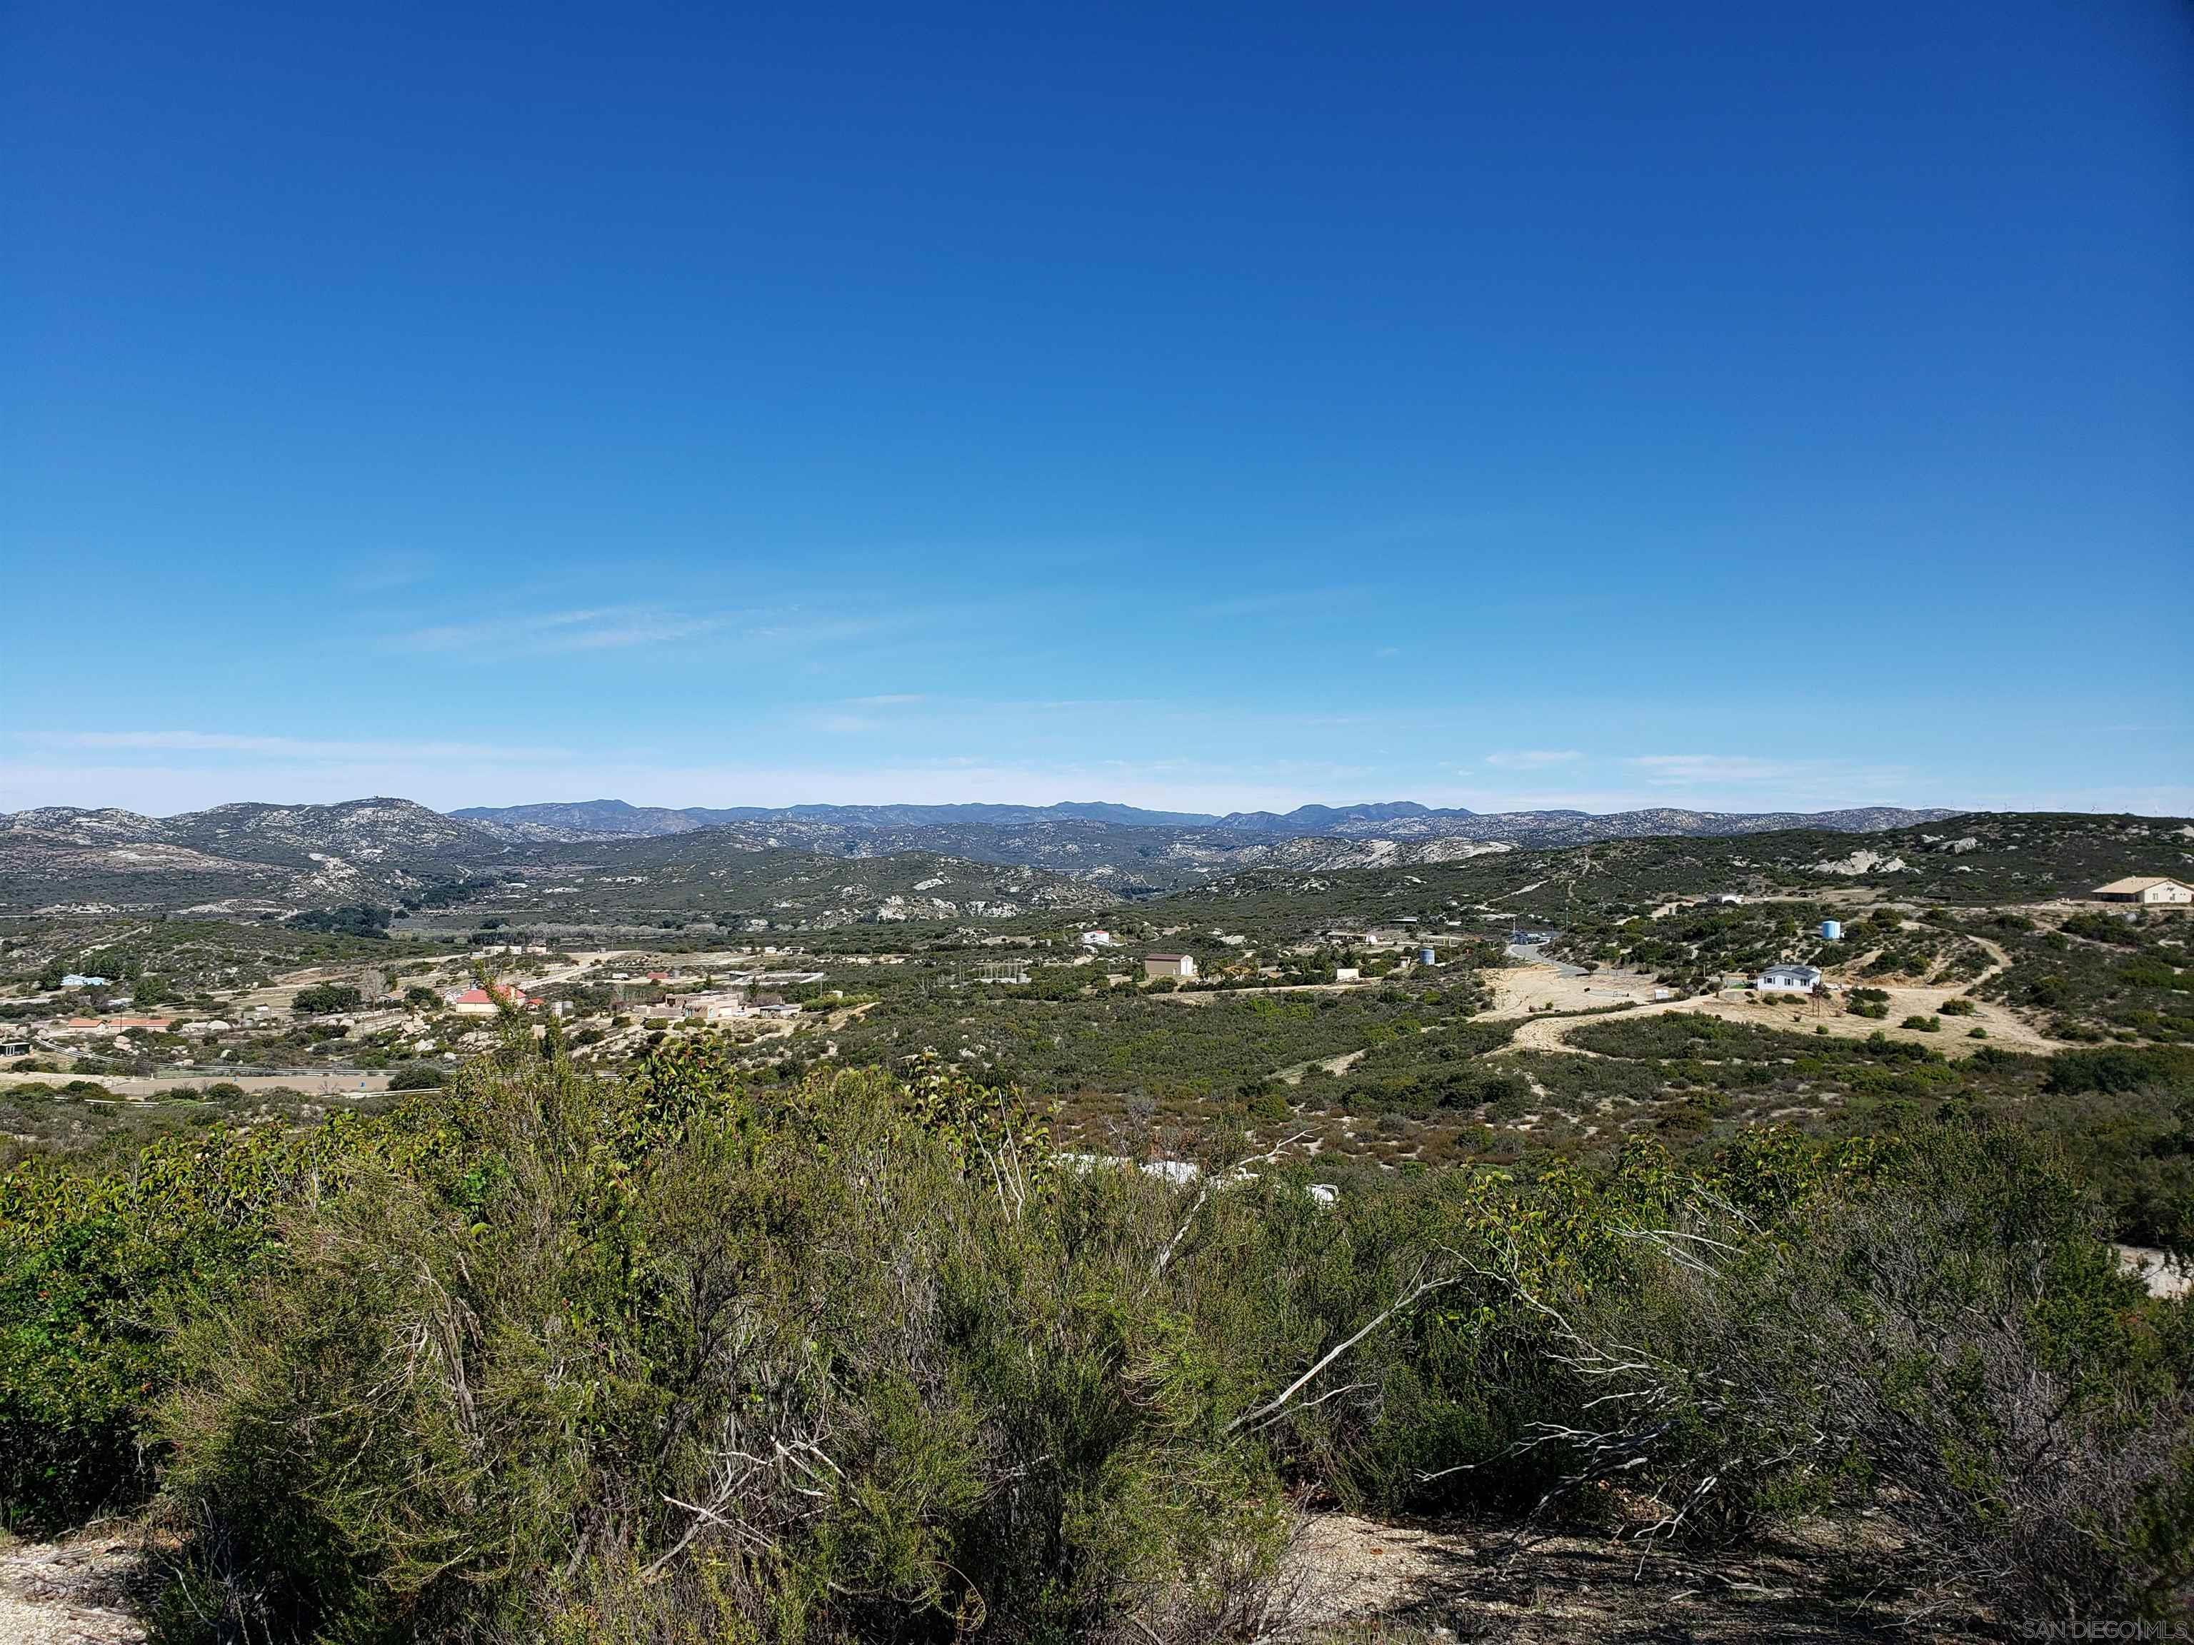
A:
MULTIPOLYGON (((445 816, 369 798, 154 818, 57 805, 0 814, 0 912, 279 919, 364 901, 399 904, 443 928, 489 915, 573 930, 682 919, 742 930, 996 923, 1036 910, 1099 915, 1205 886, 1226 904, 1264 895, 1259 886, 1336 884, 1327 875, 1352 869, 1389 871, 1358 877, 1389 890, 1494 884, 1505 853, 1531 853, 1514 875, 1534 877, 1569 847, 1621 847, 1599 853, 1615 862, 1652 858, 1652 842, 1663 842, 1661 855, 1674 851, 1670 860, 1722 875, 1782 864, 1839 884, 1865 875, 2029 897, 2135 869, 2183 877, 2194 864, 2185 818, 1896 807, 1593 816, 1402 801, 1205 816, 1128 805, 652 809, 592 801, 445 816), (1700 844, 1683 851, 1685 840, 1700 844)), ((1189 917, 1200 904, 1180 906, 1189 917)))

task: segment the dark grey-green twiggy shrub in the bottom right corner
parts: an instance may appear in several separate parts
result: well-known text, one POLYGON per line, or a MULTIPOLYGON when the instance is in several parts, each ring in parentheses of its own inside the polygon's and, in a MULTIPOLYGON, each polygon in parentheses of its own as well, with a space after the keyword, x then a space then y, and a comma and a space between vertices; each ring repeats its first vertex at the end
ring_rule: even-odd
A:
POLYGON ((1575 1423, 1577 1478, 1646 1459, 1709 1533, 1865 1500, 2003 1616, 2194 1599, 2194 1314, 2141 1298, 2014 1132, 1918 1132, 1768 1239, 1663 1226, 1659 1274, 1571 1314, 1626 1413, 1575 1423))

